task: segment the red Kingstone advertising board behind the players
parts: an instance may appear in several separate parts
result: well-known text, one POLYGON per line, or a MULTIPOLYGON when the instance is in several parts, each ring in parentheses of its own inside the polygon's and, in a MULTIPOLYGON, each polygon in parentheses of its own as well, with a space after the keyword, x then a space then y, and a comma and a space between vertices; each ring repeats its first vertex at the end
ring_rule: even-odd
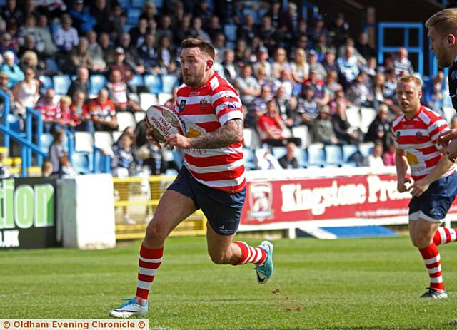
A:
MULTIPOLYGON (((404 216, 411 195, 396 175, 248 180, 241 225, 404 216)), ((457 212, 456 203, 451 212, 457 212)))

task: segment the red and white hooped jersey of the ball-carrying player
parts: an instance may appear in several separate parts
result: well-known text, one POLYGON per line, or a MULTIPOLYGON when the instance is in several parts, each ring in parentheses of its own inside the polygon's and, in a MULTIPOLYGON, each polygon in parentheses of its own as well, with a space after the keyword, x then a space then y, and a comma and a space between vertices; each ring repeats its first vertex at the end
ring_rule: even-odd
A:
MULTIPOLYGON (((179 113, 188 138, 214 132, 231 119, 243 120, 238 93, 217 73, 199 88, 181 85, 174 110, 179 113)), ((184 152, 184 165, 203 185, 231 193, 244 189, 242 143, 226 148, 186 149, 184 152)))

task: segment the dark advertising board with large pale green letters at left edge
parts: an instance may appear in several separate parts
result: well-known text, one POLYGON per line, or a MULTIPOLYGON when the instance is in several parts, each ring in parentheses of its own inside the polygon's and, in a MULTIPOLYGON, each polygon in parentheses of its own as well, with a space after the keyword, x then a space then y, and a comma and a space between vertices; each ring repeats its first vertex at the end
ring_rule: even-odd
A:
POLYGON ((0 180, 0 249, 59 246, 56 179, 0 180))

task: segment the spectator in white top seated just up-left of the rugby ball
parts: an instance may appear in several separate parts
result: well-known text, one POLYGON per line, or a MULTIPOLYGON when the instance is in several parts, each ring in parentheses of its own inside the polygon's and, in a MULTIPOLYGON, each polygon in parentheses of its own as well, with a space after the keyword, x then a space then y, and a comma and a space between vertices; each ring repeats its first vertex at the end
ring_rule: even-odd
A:
POLYGON ((109 99, 114 103, 116 112, 118 111, 142 111, 140 105, 134 100, 129 99, 127 93, 127 85, 122 81, 121 72, 119 70, 111 71, 109 83, 106 84, 109 92, 109 99))

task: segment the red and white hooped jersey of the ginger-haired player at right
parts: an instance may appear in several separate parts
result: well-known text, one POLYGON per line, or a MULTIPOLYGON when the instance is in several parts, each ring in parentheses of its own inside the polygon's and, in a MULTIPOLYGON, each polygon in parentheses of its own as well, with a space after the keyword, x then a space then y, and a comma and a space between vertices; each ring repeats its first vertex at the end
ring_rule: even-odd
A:
MULTIPOLYGON (((441 147, 438 146, 438 137, 446 130, 449 130, 446 120, 423 105, 413 118, 408 120, 402 113, 393 120, 395 148, 403 150, 414 180, 428 175, 443 157, 439 151, 441 147)), ((453 165, 442 177, 455 171, 453 165)))

